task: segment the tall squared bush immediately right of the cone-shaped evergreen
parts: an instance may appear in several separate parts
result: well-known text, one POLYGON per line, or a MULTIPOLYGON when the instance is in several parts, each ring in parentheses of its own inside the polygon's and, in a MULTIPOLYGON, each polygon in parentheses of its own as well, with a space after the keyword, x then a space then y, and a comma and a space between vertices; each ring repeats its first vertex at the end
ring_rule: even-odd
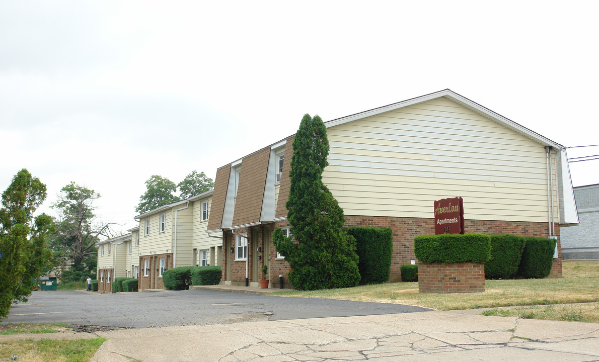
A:
POLYGON ((358 270, 361 284, 378 284, 389 280, 393 232, 388 227, 350 227, 347 233, 356 238, 358 270))

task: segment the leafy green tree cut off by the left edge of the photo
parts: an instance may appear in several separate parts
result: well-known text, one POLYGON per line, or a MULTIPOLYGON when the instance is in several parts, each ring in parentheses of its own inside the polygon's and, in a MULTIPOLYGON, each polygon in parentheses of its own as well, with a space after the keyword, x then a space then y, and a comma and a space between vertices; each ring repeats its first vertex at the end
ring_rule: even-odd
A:
POLYGON ((52 218, 33 217, 46 199, 46 185, 22 169, 2 193, 0 209, 0 318, 13 302, 26 302, 50 260, 46 236, 52 218))

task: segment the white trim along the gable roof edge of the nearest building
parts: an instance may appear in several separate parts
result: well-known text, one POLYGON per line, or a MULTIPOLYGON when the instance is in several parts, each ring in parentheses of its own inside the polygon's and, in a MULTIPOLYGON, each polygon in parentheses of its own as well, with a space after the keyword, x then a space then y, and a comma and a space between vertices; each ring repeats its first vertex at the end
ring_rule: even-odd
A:
POLYGON ((337 118, 336 120, 326 122, 325 126, 327 128, 333 127, 333 126, 338 126, 339 124, 344 124, 344 123, 359 120, 362 118, 371 117, 373 115, 378 115, 378 114, 382 114, 385 112, 394 111, 395 109, 409 107, 411 105, 428 102, 428 101, 431 101, 432 99, 441 98, 441 97, 443 97, 449 101, 452 101, 456 104, 459 104, 462 107, 470 109, 471 111, 482 115, 483 117, 487 118, 488 120, 491 120, 491 121, 494 121, 495 123, 501 124, 502 126, 508 128, 508 129, 511 129, 514 132, 519 133, 529 139, 532 139, 533 141, 535 141, 541 145, 549 145, 549 146, 559 148, 559 149, 564 148, 564 146, 551 141, 549 138, 541 136, 541 135, 539 135, 539 133, 533 132, 532 130, 530 130, 524 126, 521 126, 520 124, 518 124, 512 120, 509 120, 506 117, 503 117, 503 115, 497 114, 497 113, 491 111, 490 109, 487 109, 487 108, 483 107, 482 105, 477 104, 476 102, 470 101, 470 99, 468 99, 468 98, 458 95, 458 93, 452 92, 449 89, 444 89, 444 90, 441 90, 440 92, 431 93, 429 95, 424 95, 424 96, 420 96, 417 98, 407 99, 407 101, 398 102, 398 103, 386 105, 383 107, 370 109, 368 111, 348 115, 346 117, 337 118))

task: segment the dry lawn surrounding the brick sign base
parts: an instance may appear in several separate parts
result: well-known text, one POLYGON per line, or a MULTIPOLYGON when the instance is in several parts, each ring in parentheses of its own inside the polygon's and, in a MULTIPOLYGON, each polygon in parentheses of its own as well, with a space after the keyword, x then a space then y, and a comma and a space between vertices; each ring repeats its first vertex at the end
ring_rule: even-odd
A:
POLYGON ((423 306, 438 311, 500 306, 549 305, 599 301, 599 261, 564 261, 564 278, 485 281, 484 293, 418 293, 418 282, 362 285, 355 288, 288 291, 281 296, 358 300, 423 306))

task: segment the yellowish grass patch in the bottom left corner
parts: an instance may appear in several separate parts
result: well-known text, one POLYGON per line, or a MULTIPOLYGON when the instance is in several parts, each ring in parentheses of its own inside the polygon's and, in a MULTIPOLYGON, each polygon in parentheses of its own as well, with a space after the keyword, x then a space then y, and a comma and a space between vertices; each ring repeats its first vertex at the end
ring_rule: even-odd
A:
POLYGON ((106 339, 31 339, 0 342, 0 361, 88 362, 106 339))

